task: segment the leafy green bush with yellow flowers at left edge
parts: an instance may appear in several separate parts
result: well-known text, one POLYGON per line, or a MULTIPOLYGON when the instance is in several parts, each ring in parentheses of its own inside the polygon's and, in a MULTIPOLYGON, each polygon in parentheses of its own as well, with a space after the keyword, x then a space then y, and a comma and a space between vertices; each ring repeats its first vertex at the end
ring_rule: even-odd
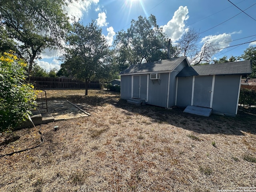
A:
POLYGON ((13 130, 31 113, 36 93, 26 82, 26 67, 12 51, 0 56, 0 132, 13 130))

